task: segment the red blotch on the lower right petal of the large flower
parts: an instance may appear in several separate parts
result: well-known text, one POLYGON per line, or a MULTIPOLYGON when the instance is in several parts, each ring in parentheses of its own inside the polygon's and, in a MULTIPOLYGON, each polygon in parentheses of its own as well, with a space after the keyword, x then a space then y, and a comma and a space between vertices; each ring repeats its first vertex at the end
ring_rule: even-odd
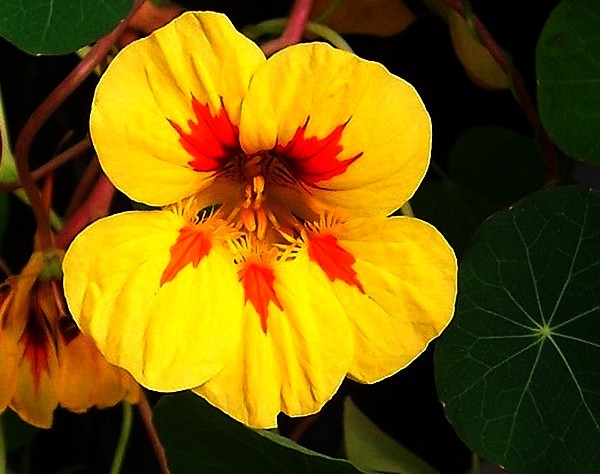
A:
POLYGON ((352 268, 356 259, 337 243, 331 234, 316 234, 308 239, 308 257, 321 267, 331 280, 342 280, 355 286, 364 293, 365 290, 352 268))

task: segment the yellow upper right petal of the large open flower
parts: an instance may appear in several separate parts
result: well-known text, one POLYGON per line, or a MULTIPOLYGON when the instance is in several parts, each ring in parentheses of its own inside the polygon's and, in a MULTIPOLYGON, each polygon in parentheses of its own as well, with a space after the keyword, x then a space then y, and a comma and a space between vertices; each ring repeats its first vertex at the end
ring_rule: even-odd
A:
MULTIPOLYGON (((288 144, 299 130, 306 140, 339 138, 342 149, 329 149, 329 158, 352 160, 307 183, 303 198, 313 208, 387 215, 412 196, 429 164, 431 124, 414 88, 382 65, 326 44, 296 45, 269 58, 242 105, 246 153, 288 144)), ((285 193, 281 199, 297 207, 298 197, 285 193)))

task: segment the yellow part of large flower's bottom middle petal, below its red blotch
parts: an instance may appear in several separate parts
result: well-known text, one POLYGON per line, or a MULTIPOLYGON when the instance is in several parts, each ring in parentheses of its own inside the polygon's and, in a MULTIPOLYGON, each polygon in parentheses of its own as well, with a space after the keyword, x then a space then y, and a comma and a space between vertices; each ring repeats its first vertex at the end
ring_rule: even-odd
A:
POLYGON ((256 428, 277 425, 277 414, 315 413, 346 375, 353 343, 343 308, 308 258, 274 264, 267 330, 251 301, 235 359, 195 389, 233 418, 256 428))

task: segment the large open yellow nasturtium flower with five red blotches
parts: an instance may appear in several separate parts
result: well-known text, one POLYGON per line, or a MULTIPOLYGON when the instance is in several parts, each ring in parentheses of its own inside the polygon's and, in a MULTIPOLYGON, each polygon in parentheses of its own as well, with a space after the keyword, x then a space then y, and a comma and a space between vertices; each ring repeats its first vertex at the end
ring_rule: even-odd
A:
POLYGON ((321 43, 266 59, 216 13, 125 48, 91 117, 115 185, 162 210, 110 216, 64 260, 82 331, 148 388, 234 418, 314 413, 448 324, 443 237, 386 216, 429 163, 429 116, 383 66, 321 43))

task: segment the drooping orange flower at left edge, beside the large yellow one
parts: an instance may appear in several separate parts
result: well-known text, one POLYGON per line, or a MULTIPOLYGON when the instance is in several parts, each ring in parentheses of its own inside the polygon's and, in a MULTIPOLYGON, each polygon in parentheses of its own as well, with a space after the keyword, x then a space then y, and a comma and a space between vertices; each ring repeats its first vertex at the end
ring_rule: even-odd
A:
POLYGON ((59 259, 36 252, 0 286, 0 412, 9 406, 40 428, 52 425, 58 405, 83 412, 139 396, 135 381, 109 365, 64 311, 60 282, 45 274, 59 259))

